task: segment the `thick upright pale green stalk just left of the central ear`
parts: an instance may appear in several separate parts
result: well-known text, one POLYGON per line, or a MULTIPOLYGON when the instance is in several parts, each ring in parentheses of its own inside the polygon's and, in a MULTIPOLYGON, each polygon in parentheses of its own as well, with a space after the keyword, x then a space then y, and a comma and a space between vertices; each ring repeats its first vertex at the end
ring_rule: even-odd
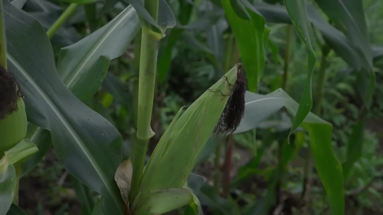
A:
MULTIPOLYGON (((145 8, 157 21, 158 0, 145 0, 145 8)), ((137 145, 133 163, 133 175, 129 202, 132 204, 139 192, 142 171, 145 165, 147 142, 153 137, 154 132, 150 127, 155 72, 157 68, 158 40, 149 35, 149 30, 144 28, 141 33, 141 53, 138 80, 138 105, 137 105, 137 145)))

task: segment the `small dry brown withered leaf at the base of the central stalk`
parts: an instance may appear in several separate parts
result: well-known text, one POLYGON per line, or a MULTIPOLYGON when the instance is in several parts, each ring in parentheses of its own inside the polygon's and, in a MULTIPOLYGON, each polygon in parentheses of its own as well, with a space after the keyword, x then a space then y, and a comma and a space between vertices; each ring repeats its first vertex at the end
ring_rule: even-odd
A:
POLYGON ((130 160, 123 161, 117 168, 115 181, 126 205, 129 205, 129 190, 132 183, 133 166, 130 160))

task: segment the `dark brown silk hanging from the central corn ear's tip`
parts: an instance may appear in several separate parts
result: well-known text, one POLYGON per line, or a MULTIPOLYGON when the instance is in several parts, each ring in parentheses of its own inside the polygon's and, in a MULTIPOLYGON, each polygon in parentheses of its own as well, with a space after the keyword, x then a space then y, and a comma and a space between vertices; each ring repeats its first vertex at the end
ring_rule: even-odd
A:
MULTIPOLYGON (((245 112, 246 79, 242 74, 242 63, 237 64, 237 80, 232 86, 228 103, 214 128, 214 134, 232 134, 245 112)), ((223 95, 224 96, 224 95, 223 95)))

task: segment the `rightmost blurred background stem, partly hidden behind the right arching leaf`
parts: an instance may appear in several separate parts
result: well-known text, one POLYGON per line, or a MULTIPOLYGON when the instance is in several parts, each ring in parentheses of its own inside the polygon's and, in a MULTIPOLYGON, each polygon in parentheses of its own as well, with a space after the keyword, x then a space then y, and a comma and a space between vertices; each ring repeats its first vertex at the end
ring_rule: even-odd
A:
MULTIPOLYGON (((316 96, 315 96, 315 106, 313 108, 314 114, 319 116, 321 114, 321 104, 322 104, 322 97, 323 97, 323 86, 324 82, 326 80, 326 67, 327 67, 327 55, 329 54, 330 49, 326 45, 322 47, 322 60, 321 60, 321 66, 319 67, 319 77, 318 77, 318 84, 316 85, 316 96)), ((302 194, 301 198, 304 199, 304 197, 309 191, 310 186, 310 180, 309 180, 309 174, 310 174, 310 168, 311 168, 311 151, 308 150, 305 162, 304 162, 304 168, 303 168, 303 184, 302 184, 302 194)))

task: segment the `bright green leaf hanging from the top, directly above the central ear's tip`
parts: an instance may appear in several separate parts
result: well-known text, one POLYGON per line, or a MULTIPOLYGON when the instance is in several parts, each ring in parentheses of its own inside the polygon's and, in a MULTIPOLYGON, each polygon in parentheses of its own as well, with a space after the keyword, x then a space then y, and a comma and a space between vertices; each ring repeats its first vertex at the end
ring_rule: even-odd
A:
MULTIPOLYGON (((237 1, 237 4, 242 5, 242 2, 237 1)), ((229 1, 221 0, 221 4, 236 37, 239 54, 246 70, 249 90, 256 92, 265 65, 265 19, 257 13, 249 2, 242 6, 246 6, 245 11, 249 14, 250 20, 239 17, 229 1)))

